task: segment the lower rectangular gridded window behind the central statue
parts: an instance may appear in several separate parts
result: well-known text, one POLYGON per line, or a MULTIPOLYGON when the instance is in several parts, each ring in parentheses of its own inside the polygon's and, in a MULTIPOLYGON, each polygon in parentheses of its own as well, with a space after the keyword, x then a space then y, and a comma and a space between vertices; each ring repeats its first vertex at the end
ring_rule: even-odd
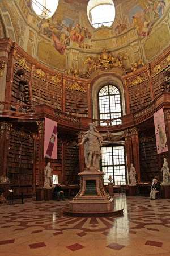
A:
POLYGON ((101 147, 101 171, 105 173, 104 185, 108 185, 109 175, 112 176, 114 185, 126 184, 125 146, 101 147))

